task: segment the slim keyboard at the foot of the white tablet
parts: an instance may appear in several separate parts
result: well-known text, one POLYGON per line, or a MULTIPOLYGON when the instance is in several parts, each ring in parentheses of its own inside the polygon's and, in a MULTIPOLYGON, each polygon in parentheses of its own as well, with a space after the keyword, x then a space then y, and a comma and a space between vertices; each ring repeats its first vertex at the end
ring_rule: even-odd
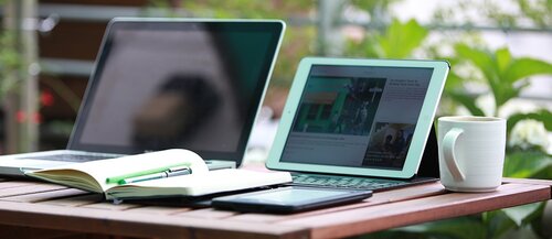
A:
POLYGON ((348 189, 383 191, 384 188, 400 187, 411 184, 404 181, 391 181, 379 178, 329 176, 312 174, 294 174, 293 185, 317 186, 317 187, 337 187, 348 189))

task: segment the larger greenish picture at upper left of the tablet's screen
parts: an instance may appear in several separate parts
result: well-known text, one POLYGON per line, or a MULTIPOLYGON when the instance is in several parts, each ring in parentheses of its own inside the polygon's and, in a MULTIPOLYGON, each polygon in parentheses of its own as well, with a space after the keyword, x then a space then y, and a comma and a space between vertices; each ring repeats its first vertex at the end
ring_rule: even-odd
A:
POLYGON ((312 77, 293 131, 368 135, 384 78, 312 77))

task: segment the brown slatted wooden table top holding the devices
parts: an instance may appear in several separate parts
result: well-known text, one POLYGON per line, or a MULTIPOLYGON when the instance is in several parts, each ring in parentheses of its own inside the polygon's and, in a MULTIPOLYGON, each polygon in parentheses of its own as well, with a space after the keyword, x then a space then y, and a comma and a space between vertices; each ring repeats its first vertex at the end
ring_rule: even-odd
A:
POLYGON ((505 178, 493 193, 439 183, 375 193, 362 203, 288 216, 102 202, 63 186, 0 178, 1 238, 335 238, 551 198, 551 181, 505 178))

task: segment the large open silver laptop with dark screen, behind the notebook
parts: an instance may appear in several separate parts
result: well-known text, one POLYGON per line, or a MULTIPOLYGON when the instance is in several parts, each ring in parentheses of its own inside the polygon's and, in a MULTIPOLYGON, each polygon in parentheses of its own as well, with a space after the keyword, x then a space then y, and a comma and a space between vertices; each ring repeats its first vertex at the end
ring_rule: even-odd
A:
POLYGON ((114 19, 66 150, 1 156, 0 174, 172 148, 210 170, 240 166, 284 30, 279 20, 114 19))

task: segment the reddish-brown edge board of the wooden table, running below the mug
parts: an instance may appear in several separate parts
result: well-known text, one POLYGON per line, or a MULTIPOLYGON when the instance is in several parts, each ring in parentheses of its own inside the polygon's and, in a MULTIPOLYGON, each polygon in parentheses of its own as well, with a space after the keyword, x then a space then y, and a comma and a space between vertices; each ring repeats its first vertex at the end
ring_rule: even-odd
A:
POLYGON ((506 184, 492 193, 448 193, 375 207, 282 220, 277 225, 309 227, 312 229, 310 235, 312 238, 347 237, 534 203, 550 197, 550 186, 506 184))

